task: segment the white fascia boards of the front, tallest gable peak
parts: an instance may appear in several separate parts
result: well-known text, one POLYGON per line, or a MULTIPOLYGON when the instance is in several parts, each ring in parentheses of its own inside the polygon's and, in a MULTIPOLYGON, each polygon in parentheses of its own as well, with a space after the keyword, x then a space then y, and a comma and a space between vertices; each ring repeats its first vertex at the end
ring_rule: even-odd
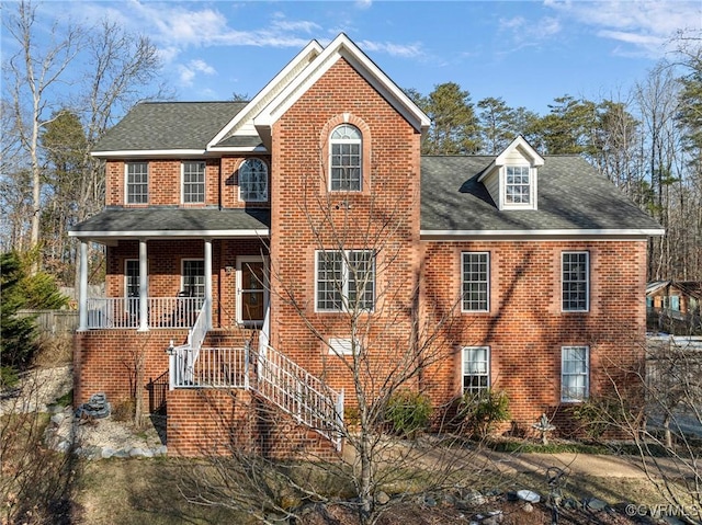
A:
POLYGON ((259 134, 269 128, 333 66, 346 58, 377 89, 393 106, 419 132, 426 132, 431 121, 387 75, 385 75, 346 34, 337 36, 325 50, 298 75, 259 115, 253 118, 259 134))

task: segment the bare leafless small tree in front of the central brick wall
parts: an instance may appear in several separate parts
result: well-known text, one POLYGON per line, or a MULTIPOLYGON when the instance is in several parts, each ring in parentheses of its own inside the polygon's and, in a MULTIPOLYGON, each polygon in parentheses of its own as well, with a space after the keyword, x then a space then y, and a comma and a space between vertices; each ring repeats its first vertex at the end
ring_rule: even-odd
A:
MULTIPOLYGON (((318 192, 318 176, 304 178, 297 212, 312 233, 325 289, 310 297, 286 273, 290 262, 273 255, 270 289, 304 328, 296 346, 321 349, 315 354, 321 355, 321 362, 314 370, 321 388, 331 392, 331 381, 340 378, 348 386, 346 418, 316 429, 341 438, 343 456, 330 461, 304 450, 312 463, 281 460, 267 455, 264 447, 241 431, 256 423, 240 423, 239 431, 231 431, 223 422, 228 430, 217 434, 229 440, 227 453, 211 455, 203 467, 215 471, 218 481, 203 484, 201 480, 212 476, 189 472, 182 490, 191 501, 247 510, 264 523, 296 515, 304 503, 336 503, 360 523, 372 524, 392 512, 394 504, 448 486, 468 486, 466 479, 477 470, 471 460, 474 450, 449 447, 456 440, 449 432, 451 406, 433 408, 431 434, 423 434, 427 427, 421 423, 397 426, 388 410, 398 398, 409 400, 403 407, 409 412, 421 410, 414 400, 429 399, 435 365, 452 358, 454 352, 445 341, 460 297, 443 310, 420 306, 418 274, 407 282, 399 267, 407 258, 401 241, 408 231, 407 210, 417 202, 411 190, 388 197, 375 187, 384 197, 371 196, 356 212, 352 193, 318 192), (315 315, 317 300, 336 313, 315 315), (407 392, 411 395, 403 397, 407 392)), ((383 184, 380 178, 374 183, 383 184)), ((298 381, 303 391, 305 379, 287 380, 298 381)), ((296 385, 290 391, 298 391, 296 385)), ((301 404, 309 401, 303 393, 295 400, 301 404)), ((254 398, 242 412, 275 420, 282 416, 276 410, 254 398)))

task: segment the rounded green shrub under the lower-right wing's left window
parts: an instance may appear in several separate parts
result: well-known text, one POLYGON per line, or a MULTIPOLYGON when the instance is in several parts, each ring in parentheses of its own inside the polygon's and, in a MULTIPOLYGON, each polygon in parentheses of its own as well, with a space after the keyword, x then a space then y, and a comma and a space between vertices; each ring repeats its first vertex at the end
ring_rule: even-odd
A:
POLYGON ((502 390, 466 392, 458 401, 458 424, 474 437, 487 437, 497 423, 509 420, 509 397, 502 390))

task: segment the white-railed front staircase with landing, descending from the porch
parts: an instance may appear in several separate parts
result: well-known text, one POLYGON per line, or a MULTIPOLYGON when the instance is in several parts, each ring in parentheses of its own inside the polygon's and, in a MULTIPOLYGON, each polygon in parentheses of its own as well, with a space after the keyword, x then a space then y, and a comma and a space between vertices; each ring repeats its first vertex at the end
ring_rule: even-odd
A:
POLYGON ((169 388, 251 390, 341 449, 343 390, 337 392, 268 344, 268 315, 259 350, 203 347, 207 330, 202 308, 188 342, 168 349, 169 388))

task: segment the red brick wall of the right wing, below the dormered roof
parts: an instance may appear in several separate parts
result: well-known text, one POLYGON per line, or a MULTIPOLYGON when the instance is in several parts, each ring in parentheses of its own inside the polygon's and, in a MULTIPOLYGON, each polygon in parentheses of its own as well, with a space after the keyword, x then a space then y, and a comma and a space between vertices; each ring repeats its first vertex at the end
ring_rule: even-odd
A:
POLYGON ((422 298, 428 318, 451 311, 442 338, 446 358, 426 375, 437 403, 462 389, 461 349, 490 346, 494 388, 510 398, 512 419, 531 427, 561 403, 561 347, 590 349, 590 392, 611 393, 639 369, 645 335, 646 241, 429 242, 424 246, 422 298), (562 312, 561 254, 590 253, 590 310, 562 312), (461 252, 490 252, 490 311, 462 313, 461 252))

